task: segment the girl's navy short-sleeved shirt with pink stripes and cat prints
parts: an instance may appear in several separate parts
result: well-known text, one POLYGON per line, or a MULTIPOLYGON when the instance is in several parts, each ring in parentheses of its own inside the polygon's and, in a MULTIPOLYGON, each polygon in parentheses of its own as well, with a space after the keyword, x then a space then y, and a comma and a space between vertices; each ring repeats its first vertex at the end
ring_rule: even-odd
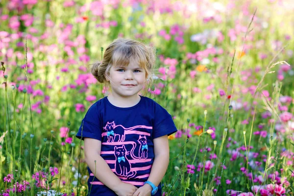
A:
MULTIPOLYGON (((76 134, 101 141, 100 156, 123 182, 143 186, 154 160, 153 139, 177 131, 172 116, 153 99, 140 96, 138 104, 121 108, 101 98, 87 111, 76 134)), ((99 166, 97 166, 99 169, 99 166)), ((116 196, 90 171, 90 196, 116 196)), ((161 196, 161 184, 156 196, 161 196)))

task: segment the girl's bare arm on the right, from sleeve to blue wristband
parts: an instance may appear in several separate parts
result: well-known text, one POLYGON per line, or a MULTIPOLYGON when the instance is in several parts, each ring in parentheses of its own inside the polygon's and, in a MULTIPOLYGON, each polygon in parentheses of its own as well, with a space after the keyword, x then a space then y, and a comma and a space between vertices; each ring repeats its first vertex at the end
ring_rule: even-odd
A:
POLYGON ((148 181, 152 182, 155 186, 158 186, 168 169, 170 161, 168 135, 153 139, 153 144, 155 158, 148 181))

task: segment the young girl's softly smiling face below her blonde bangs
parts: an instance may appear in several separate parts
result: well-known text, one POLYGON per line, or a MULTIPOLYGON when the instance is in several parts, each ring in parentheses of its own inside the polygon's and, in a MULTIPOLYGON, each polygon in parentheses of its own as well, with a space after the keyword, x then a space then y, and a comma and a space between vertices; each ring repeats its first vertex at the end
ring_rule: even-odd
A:
POLYGON ((134 60, 127 67, 111 67, 109 76, 112 93, 122 97, 137 96, 146 81, 146 71, 134 60))

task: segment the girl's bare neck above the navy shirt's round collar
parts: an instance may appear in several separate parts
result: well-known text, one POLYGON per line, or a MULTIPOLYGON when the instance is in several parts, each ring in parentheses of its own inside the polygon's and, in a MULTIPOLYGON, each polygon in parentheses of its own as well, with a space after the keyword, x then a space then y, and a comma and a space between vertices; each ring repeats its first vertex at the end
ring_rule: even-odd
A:
POLYGON ((134 95, 132 97, 121 97, 118 95, 110 94, 109 96, 107 96, 107 99, 112 105, 116 107, 132 107, 139 103, 141 97, 139 95, 134 95))

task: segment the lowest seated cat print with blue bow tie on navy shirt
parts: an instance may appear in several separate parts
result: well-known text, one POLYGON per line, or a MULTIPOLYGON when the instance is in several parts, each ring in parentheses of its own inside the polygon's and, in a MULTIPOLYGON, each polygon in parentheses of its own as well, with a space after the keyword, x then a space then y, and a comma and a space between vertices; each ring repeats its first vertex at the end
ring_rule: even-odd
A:
POLYGON ((114 147, 114 155, 116 157, 115 162, 115 172, 118 175, 125 176, 127 178, 131 178, 136 175, 136 172, 131 171, 131 164, 126 158, 127 151, 124 147, 114 147))

